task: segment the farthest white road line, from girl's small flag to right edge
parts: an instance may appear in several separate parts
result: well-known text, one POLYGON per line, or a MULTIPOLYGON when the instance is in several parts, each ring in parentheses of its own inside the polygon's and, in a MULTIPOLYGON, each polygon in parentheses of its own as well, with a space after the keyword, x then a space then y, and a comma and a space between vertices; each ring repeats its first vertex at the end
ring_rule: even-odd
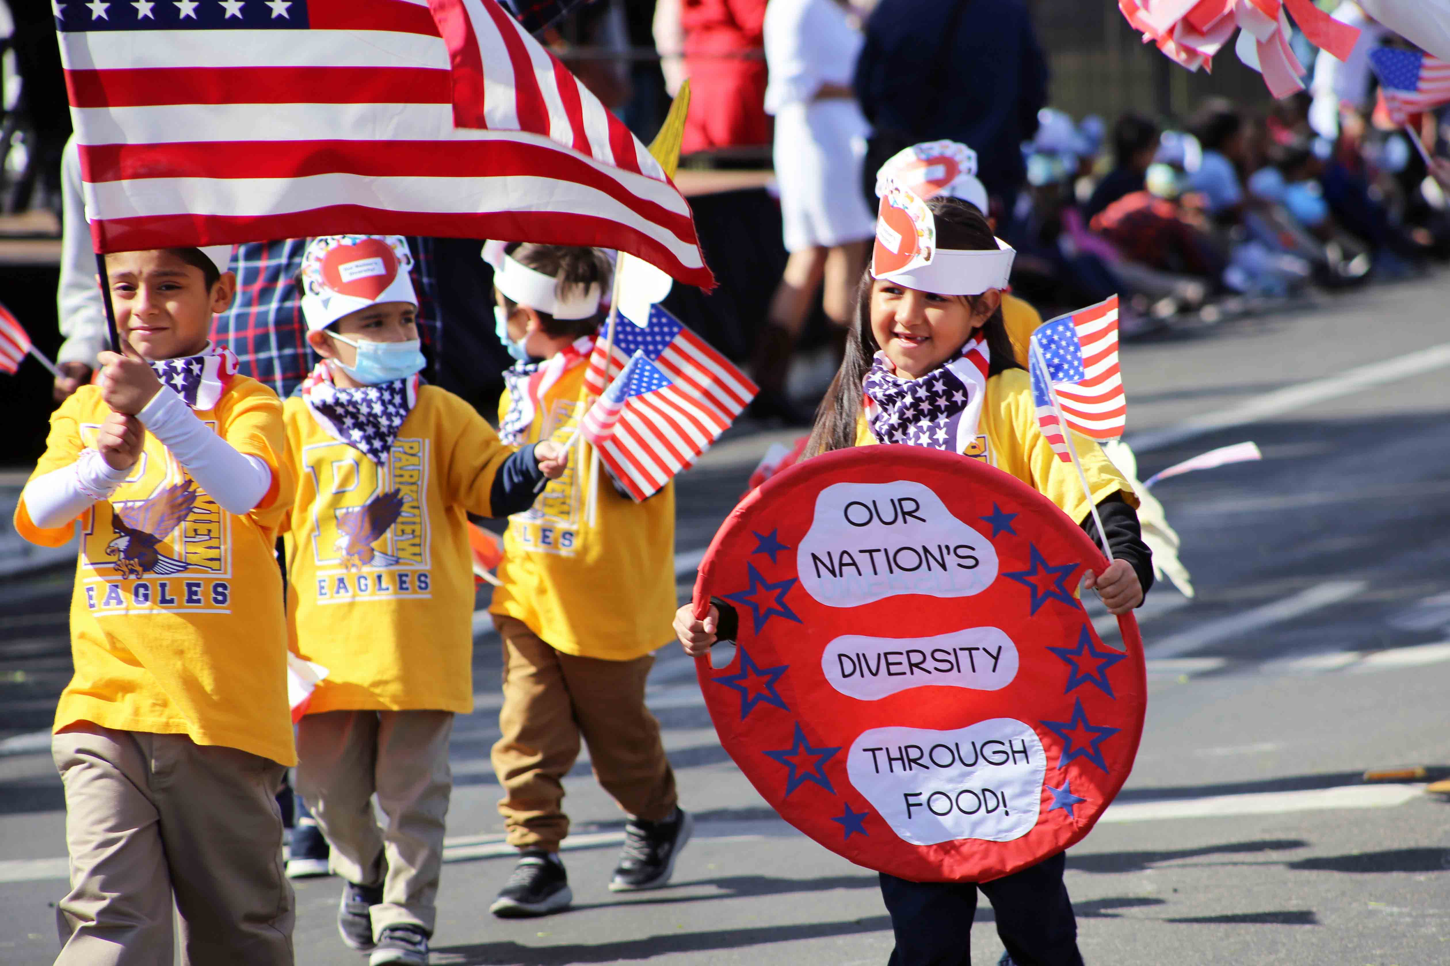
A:
POLYGON ((1430 346, 1428 349, 1418 349, 1402 356, 1395 356, 1393 359, 1385 359, 1383 362, 1372 362, 1370 365, 1346 369, 1335 375, 1311 379, 1275 392, 1266 392, 1238 406, 1230 406, 1215 413, 1202 413, 1177 426, 1134 433, 1128 437, 1128 443, 1140 455, 1154 449, 1166 449, 1221 429, 1247 426, 1248 423, 1257 423, 1273 416, 1302 410, 1315 403, 1327 403, 1343 395, 1353 395, 1375 385, 1396 382, 1424 372, 1434 372, 1444 366, 1450 366, 1450 342, 1430 346))

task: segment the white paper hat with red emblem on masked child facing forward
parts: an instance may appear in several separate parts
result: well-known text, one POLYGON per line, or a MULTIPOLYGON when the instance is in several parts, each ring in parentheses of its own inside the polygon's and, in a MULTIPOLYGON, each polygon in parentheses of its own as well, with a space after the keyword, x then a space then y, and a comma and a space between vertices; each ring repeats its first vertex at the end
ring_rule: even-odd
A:
POLYGON ((403 301, 418 307, 409 269, 413 253, 402 235, 325 235, 302 256, 302 314, 307 332, 326 329, 368 306, 403 301))

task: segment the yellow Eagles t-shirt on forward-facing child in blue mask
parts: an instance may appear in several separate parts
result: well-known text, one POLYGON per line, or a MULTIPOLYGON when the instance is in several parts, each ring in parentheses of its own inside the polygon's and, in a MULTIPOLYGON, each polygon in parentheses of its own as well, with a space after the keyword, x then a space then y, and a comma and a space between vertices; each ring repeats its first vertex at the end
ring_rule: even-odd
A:
POLYGON ((302 397, 284 410, 297 475, 287 624, 293 650, 328 669, 307 713, 473 711, 465 514, 493 516, 515 448, 434 385, 418 390, 386 466, 334 439, 302 397))

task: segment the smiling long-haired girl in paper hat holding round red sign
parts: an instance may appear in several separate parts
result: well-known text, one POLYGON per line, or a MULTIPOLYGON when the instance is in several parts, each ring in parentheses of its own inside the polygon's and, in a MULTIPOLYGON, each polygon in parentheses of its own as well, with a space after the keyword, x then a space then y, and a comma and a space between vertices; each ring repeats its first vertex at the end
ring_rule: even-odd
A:
MULTIPOLYGON (((1096 540, 1089 497, 1038 429, 1028 374, 1014 359, 1002 322, 1014 255, 973 206, 892 187, 882 198, 876 252, 861 280, 845 361, 816 414, 806 456, 874 443, 964 453, 1031 485, 1096 540)), ((1072 442, 1112 558, 1101 574, 1089 571, 1083 587, 1096 589, 1114 614, 1125 614, 1153 584, 1137 497, 1093 440, 1072 434, 1072 442)), ((692 605, 676 616, 692 656, 718 639, 734 639, 737 624, 734 607, 721 598, 702 620, 692 605)), ((1080 966, 1064 863, 1058 852, 989 882, 912 882, 882 873, 896 934, 892 966, 967 966, 979 888, 996 914, 1003 963, 1080 966)))

